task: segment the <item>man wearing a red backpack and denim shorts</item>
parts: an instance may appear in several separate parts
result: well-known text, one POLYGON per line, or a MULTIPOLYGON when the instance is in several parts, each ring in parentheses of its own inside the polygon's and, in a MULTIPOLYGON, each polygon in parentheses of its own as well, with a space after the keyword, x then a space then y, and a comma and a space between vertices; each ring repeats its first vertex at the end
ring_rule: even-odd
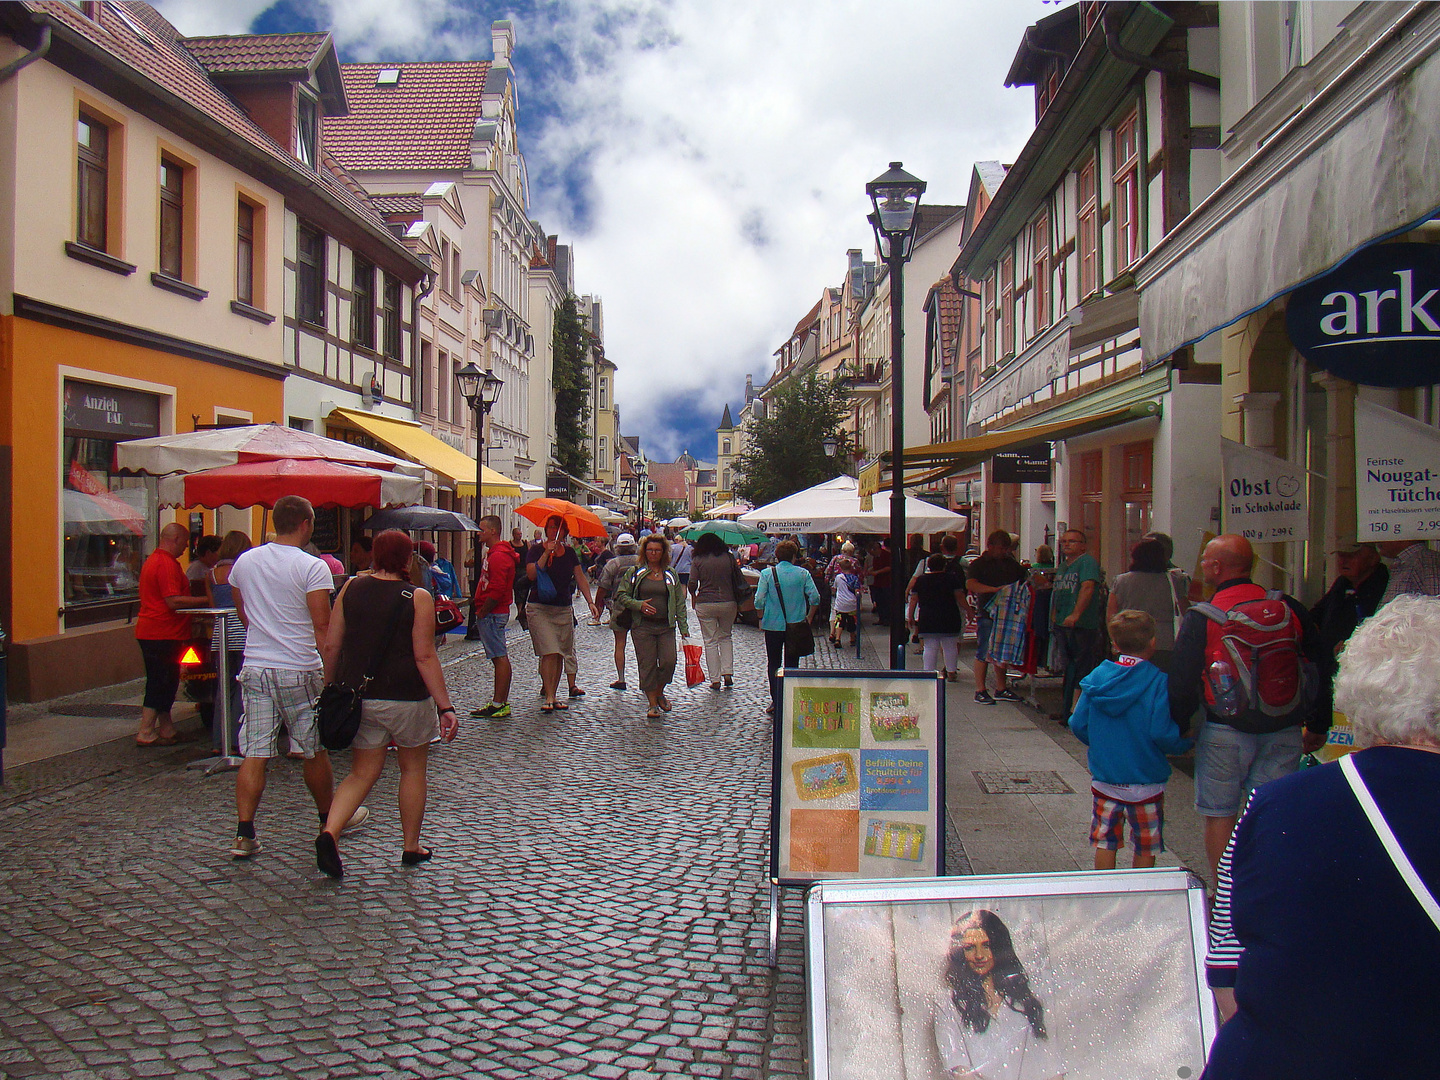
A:
POLYGON ((1250 580, 1243 536, 1205 544, 1200 569, 1215 589, 1185 612, 1169 674, 1171 717, 1187 733, 1195 708, 1195 809, 1205 818, 1211 880, 1248 793, 1295 772, 1331 727, 1325 645, 1293 596, 1250 580))

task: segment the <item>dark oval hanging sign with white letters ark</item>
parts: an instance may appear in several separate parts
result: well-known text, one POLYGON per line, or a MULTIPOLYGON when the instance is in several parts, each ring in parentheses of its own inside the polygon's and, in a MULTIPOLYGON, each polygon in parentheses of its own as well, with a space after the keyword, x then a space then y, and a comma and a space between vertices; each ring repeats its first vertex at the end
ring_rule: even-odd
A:
POLYGON ((1318 367, 1362 386, 1440 383, 1440 246, 1378 243, 1290 294, 1284 327, 1318 367))

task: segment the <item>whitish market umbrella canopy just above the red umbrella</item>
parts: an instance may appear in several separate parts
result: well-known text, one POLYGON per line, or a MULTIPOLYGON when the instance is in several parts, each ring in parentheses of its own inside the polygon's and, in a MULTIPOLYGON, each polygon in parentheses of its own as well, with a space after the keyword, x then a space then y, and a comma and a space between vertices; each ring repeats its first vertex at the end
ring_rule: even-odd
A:
POLYGON ((285 459, 333 461, 340 465, 402 472, 408 477, 425 474, 423 465, 340 439, 327 439, 308 431, 287 428, 284 423, 252 423, 243 428, 210 428, 176 435, 157 435, 150 439, 131 439, 115 446, 115 461, 122 472, 148 472, 153 477, 203 472, 248 461, 285 459))

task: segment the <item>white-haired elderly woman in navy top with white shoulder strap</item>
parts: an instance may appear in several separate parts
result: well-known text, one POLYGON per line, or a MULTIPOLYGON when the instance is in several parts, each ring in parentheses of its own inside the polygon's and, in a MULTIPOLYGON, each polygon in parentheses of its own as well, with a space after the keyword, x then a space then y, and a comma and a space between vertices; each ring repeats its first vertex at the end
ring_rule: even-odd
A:
POLYGON ((1440 599, 1341 654, 1356 753, 1259 788, 1220 864, 1208 1080, 1440 1076, 1440 599))

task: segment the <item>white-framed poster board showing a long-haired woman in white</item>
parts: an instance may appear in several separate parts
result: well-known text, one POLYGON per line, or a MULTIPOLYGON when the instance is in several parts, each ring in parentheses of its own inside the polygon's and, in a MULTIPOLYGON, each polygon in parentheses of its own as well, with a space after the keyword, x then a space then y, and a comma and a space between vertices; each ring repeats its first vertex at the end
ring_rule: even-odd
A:
POLYGON ((1197 1080, 1215 1037, 1184 870, 837 881, 805 904, 815 1080, 1197 1080))

